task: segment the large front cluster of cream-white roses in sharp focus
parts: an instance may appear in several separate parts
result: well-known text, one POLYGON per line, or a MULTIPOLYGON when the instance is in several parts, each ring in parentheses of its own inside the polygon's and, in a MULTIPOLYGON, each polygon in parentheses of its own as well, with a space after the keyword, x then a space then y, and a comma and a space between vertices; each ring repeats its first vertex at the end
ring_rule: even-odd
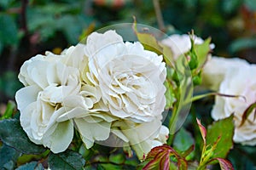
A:
POLYGON ((166 143, 166 64, 115 31, 94 32, 59 55, 36 55, 21 66, 19 79, 20 124, 32 142, 54 153, 67 150, 74 127, 87 149, 113 138, 142 158, 166 143))

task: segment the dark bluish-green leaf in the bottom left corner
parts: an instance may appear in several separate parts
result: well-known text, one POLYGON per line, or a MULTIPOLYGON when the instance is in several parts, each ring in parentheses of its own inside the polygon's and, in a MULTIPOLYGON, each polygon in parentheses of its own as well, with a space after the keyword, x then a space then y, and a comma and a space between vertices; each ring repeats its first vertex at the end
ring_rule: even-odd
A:
POLYGON ((0 169, 14 169, 20 152, 5 144, 0 149, 0 169))

